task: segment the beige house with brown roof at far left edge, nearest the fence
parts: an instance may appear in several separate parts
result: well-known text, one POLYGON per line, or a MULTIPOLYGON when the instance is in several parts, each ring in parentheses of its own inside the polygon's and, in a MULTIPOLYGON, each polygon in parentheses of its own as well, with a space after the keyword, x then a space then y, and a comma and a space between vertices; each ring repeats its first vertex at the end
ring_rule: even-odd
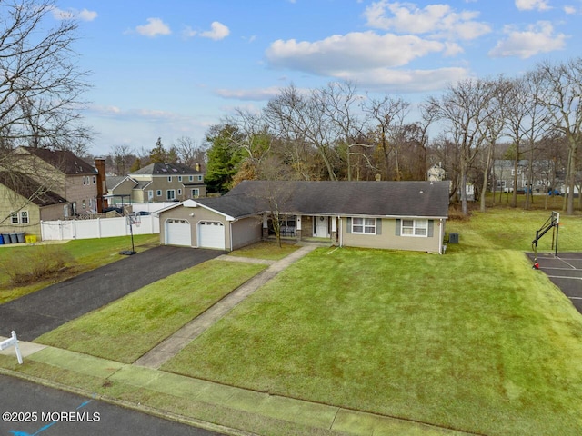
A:
POLYGON ((23 173, 0 172, 0 233, 41 238, 40 222, 58 220, 69 203, 23 173))

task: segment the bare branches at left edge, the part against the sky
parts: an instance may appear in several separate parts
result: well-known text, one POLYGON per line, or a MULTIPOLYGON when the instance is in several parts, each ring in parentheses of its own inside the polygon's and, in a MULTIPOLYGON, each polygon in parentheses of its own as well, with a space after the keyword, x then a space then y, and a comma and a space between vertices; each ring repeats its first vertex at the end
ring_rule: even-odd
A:
POLYGON ((51 27, 51 0, 0 6, 0 134, 2 145, 86 150, 91 132, 80 124, 87 73, 75 63, 77 23, 51 27))

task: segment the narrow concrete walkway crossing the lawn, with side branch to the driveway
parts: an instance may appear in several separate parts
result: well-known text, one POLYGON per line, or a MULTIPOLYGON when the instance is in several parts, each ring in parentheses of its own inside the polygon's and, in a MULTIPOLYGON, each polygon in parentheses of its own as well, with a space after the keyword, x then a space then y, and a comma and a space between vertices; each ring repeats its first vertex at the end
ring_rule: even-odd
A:
POLYGON ((267 263, 270 266, 265 271, 259 272, 251 280, 236 288, 233 292, 230 292, 222 300, 216 302, 214 306, 208 308, 206 312, 201 313, 172 336, 166 338, 165 341, 160 342, 152 350, 146 352, 146 354, 134 362, 135 365, 153 369, 159 368, 174 357, 177 352, 180 352, 186 347, 188 343, 194 341, 206 329, 225 316, 226 313, 230 312, 236 304, 245 300, 246 297, 275 277, 276 274, 286 269, 291 263, 295 263, 298 259, 301 259, 307 253, 311 253, 316 248, 317 245, 305 245, 275 263, 227 255, 217 257, 216 259, 225 262, 267 263))

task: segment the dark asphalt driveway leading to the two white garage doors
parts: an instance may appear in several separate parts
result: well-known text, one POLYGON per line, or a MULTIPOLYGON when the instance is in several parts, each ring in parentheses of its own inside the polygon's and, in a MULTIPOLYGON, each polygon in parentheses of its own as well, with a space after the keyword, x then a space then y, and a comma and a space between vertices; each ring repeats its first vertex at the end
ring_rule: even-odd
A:
POLYGON ((0 335, 33 341, 65 322, 225 252, 162 245, 0 305, 0 335))

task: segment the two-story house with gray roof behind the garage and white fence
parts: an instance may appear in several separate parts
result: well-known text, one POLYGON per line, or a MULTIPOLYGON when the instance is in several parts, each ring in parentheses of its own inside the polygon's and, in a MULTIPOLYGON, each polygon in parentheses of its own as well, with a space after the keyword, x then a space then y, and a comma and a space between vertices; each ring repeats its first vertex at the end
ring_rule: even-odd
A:
POLYGON ((107 185, 107 196, 116 203, 130 194, 130 202, 181 202, 206 196, 204 173, 200 166, 182 163, 151 163, 125 178, 107 185))

